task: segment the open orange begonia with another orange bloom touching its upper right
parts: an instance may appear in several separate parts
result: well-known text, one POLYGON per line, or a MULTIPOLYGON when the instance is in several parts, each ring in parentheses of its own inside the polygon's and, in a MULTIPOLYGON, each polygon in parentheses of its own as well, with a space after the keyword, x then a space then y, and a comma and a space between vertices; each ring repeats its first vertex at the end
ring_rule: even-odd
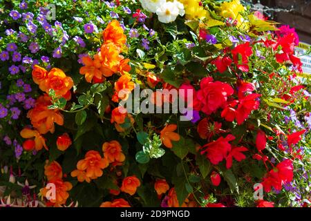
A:
POLYGON ((90 182, 101 177, 102 170, 109 166, 109 160, 102 158, 98 151, 88 151, 83 160, 77 162, 77 170, 71 172, 71 176, 78 177, 79 182, 90 182), (91 179, 91 180, 90 180, 91 179))

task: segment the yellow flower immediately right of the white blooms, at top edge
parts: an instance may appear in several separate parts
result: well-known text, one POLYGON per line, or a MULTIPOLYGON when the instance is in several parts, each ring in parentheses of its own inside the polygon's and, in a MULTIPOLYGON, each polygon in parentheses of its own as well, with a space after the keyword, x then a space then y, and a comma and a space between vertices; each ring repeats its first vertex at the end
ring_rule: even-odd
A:
POLYGON ((200 0, 180 0, 185 6, 186 19, 205 19, 209 18, 209 12, 200 4, 200 0))

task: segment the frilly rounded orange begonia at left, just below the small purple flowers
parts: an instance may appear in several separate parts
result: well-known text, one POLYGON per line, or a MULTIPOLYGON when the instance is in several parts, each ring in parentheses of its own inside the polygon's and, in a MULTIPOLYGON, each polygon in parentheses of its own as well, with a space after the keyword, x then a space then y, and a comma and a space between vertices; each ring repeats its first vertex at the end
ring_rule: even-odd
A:
POLYGON ((73 87, 73 79, 67 77, 65 73, 59 68, 53 68, 48 73, 48 76, 44 81, 41 81, 39 88, 48 93, 50 89, 55 90, 55 95, 63 96, 68 93, 73 87))

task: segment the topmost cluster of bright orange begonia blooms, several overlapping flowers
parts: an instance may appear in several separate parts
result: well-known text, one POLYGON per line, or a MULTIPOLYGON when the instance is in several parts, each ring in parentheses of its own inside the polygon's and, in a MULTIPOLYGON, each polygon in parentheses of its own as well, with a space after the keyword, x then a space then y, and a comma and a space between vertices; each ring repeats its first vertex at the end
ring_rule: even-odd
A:
POLYGON ((103 81, 105 77, 111 77, 114 73, 127 73, 131 70, 129 59, 124 59, 120 53, 126 43, 126 35, 119 21, 113 20, 103 32, 104 44, 100 52, 94 58, 84 57, 79 73, 85 76, 88 83, 103 81))

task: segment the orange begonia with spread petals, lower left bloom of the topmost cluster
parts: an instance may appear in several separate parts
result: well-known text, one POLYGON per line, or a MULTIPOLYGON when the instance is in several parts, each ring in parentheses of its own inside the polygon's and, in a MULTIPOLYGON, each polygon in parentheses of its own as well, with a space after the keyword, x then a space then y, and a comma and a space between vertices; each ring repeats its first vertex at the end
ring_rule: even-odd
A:
POLYGON ((96 77, 96 79, 102 79, 102 70, 100 68, 102 65, 100 62, 97 62, 97 60, 92 60, 91 57, 85 56, 82 57, 82 63, 84 64, 84 67, 80 68, 79 73, 81 75, 84 75, 86 81, 88 83, 91 83, 93 77, 96 77))

